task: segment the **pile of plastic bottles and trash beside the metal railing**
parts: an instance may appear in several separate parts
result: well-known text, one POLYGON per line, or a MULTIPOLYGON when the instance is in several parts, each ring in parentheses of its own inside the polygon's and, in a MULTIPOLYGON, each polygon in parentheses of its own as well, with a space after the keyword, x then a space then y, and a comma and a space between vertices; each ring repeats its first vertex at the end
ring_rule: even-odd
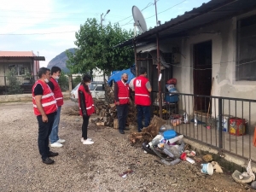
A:
MULTIPOLYGON (((197 164, 202 160, 196 158, 194 150, 188 150, 188 145, 183 141, 183 135, 178 135, 172 130, 172 125, 161 125, 159 134, 149 143, 143 143, 144 153, 155 154, 160 157, 166 166, 175 166, 181 161, 197 164)), ((212 175, 215 172, 223 172, 218 162, 212 161, 210 154, 202 158, 207 163, 201 164, 201 172, 212 175), (212 162, 210 162, 212 161, 212 162)))

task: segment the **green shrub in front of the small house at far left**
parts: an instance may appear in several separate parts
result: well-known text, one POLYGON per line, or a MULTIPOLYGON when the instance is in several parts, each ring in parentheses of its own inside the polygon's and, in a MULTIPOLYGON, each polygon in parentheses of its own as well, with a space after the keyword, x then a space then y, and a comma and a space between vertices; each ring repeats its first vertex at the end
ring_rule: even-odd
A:
POLYGON ((23 89, 20 87, 20 81, 16 77, 14 68, 7 72, 7 79, 9 81, 8 94, 15 95, 23 93, 23 89))

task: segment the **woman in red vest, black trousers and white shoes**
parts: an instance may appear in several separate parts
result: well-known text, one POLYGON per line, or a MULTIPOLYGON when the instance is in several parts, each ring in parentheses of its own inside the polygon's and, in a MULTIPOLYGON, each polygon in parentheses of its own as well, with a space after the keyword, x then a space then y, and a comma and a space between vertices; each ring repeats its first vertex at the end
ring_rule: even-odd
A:
POLYGON ((79 86, 79 113, 83 117, 82 138, 81 142, 84 145, 93 144, 91 138, 87 137, 87 128, 90 115, 95 112, 93 99, 89 90, 91 78, 89 75, 84 75, 84 78, 79 86))

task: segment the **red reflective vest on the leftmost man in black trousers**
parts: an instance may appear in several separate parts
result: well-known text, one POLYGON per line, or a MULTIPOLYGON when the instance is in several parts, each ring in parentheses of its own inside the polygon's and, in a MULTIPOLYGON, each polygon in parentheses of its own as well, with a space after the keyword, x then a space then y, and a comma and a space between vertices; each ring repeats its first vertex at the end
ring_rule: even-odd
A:
POLYGON ((48 84, 46 84, 45 82, 43 82, 39 79, 32 87, 32 102, 33 102, 33 108, 34 108, 35 115, 37 115, 37 116, 42 115, 38 110, 36 100, 35 100, 35 95, 34 95, 34 90, 35 90, 35 87, 37 86, 37 84, 41 84, 41 86, 43 88, 43 96, 41 99, 41 103, 42 103, 42 106, 44 109, 44 113, 45 114, 54 113, 55 111, 57 111, 57 108, 58 108, 57 104, 56 104, 54 93, 51 91, 48 84))

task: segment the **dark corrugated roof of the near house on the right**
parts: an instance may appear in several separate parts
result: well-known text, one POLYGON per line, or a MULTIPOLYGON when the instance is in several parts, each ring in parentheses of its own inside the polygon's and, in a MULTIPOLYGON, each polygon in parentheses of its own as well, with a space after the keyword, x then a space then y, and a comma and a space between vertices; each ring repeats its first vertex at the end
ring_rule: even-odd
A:
POLYGON ((155 39, 156 33, 159 33, 160 38, 183 36, 195 27, 205 26, 214 21, 241 15, 255 8, 256 0, 212 0, 208 3, 203 3, 199 8, 194 8, 183 15, 167 21, 161 26, 155 26, 153 29, 119 44, 118 47, 131 45, 133 39, 137 43, 149 42, 155 39))

